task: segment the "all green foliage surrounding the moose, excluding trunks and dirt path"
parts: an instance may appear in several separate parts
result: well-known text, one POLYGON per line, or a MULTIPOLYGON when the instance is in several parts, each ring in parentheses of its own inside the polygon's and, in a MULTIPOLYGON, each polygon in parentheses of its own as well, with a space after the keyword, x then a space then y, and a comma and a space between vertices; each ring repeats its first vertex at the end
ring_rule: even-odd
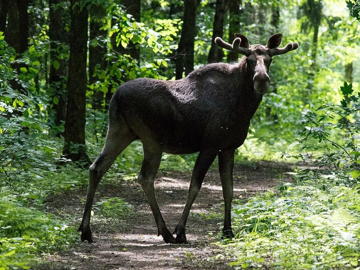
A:
MULTIPOLYGON (((84 188, 88 183, 88 171, 76 164, 57 168, 66 161, 61 158, 63 139, 53 134, 63 130, 62 125, 55 125, 54 108, 62 94, 59 89, 66 89, 71 9, 69 1, 60 2, 51 8, 63 11, 65 38, 56 43, 55 49, 50 49, 54 41, 49 37, 48 1, 31 1, 28 7, 29 46, 22 55, 8 46, 0 32, 0 269, 26 268, 29 259, 72 244, 74 228, 67 218, 44 211, 46 198, 84 188), (55 53, 54 58, 50 52, 55 53), (55 70, 64 68, 64 75, 55 85, 49 83, 50 66, 55 70)), ((290 153, 287 156, 311 160, 324 169, 295 168, 295 186, 283 184, 280 195, 259 195, 234 208, 238 234, 226 248, 235 252, 235 264, 240 267, 293 268, 297 266, 291 264, 293 258, 301 261, 303 268, 357 265, 360 25, 349 15, 359 19, 359 1, 321 1, 321 13, 309 10, 304 5, 307 2, 269 0, 264 5, 264 1, 245 1, 239 18, 240 32, 252 44, 265 44, 276 31, 284 33, 283 45, 300 41, 300 48, 281 60, 274 59, 269 73, 270 93, 252 119, 248 138, 237 150, 235 161, 276 159, 286 150, 290 153), (270 22, 276 6, 280 8, 277 26, 270 22), (314 22, 321 24, 316 58, 311 51, 314 22), (316 69, 310 74, 315 60, 316 69), (338 87, 348 64, 354 66, 353 84, 344 84, 342 97, 338 87), (293 129, 300 131, 298 142, 293 129), (306 153, 293 154, 304 146, 306 153)), ((207 61, 215 3, 199 1, 195 68, 207 61)), ((114 1, 85 0, 78 4, 81 8, 102 5, 106 9, 101 29, 108 34, 89 41, 89 46, 106 47, 101 55, 105 64, 95 67, 96 82, 86 91, 86 146, 94 160, 105 140, 109 94, 138 77, 174 79, 173 60, 183 25, 183 5, 181 1, 141 1, 141 22, 136 22, 125 7, 114 1), (140 59, 124 53, 133 45, 140 48, 140 59), (95 93, 103 94, 101 108, 93 106, 95 93)), ((227 15, 224 22, 227 39, 227 15)), ((228 52, 224 53, 226 57, 228 52)), ((190 172, 196 157, 164 154, 160 170, 190 172)), ((134 141, 117 158, 103 183, 133 180, 142 160, 141 143, 134 141)), ((213 167, 217 167, 216 161, 213 167)), ((129 204, 117 197, 103 198, 94 208, 95 220, 105 225, 110 218, 113 222, 115 217, 131 214, 129 204)))

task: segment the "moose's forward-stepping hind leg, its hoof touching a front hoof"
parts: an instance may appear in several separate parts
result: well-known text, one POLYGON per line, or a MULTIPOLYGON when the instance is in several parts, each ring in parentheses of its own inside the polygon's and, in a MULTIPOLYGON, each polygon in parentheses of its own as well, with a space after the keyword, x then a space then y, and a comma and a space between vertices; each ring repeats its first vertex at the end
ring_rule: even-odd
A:
POLYGON ((144 143, 144 161, 138 176, 138 182, 143 188, 144 193, 153 212, 156 226, 158 228, 158 236, 161 235, 166 243, 176 243, 175 238, 167 229, 165 221, 161 215, 154 190, 154 179, 159 170, 162 149, 154 142, 144 143))

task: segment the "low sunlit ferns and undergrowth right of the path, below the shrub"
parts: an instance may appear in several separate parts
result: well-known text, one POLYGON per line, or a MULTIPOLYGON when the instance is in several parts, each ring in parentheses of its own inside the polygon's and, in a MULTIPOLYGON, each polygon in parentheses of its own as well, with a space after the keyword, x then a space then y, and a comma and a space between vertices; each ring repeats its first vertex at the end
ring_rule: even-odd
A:
POLYGON ((238 201, 236 233, 218 242, 242 269, 359 269, 360 186, 286 184, 238 201), (235 258, 235 259, 234 259, 235 258))

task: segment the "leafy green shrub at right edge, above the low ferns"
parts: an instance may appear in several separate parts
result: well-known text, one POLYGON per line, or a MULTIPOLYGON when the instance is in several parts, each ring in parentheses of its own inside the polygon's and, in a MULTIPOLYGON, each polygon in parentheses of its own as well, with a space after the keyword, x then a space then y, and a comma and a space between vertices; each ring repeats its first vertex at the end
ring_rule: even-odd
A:
POLYGON ((305 128, 299 131, 299 141, 305 144, 303 149, 311 153, 321 149, 321 154, 292 157, 326 168, 329 171, 328 184, 354 185, 360 179, 360 94, 356 95, 352 85, 346 82, 341 92, 344 98, 340 104, 321 100, 314 112, 306 114, 303 119, 305 128), (318 144, 314 145, 314 140, 318 144))

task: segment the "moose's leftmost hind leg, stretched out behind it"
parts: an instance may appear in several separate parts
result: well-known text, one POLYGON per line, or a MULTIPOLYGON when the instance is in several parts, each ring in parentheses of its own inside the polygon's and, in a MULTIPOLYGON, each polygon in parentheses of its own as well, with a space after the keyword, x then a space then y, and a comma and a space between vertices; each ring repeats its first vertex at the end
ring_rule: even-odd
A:
POLYGON ((113 128, 109 126, 105 145, 100 156, 90 166, 89 187, 87 188, 84 215, 78 231, 81 231, 81 240, 93 242, 90 230, 91 207, 95 190, 103 175, 109 170, 117 156, 136 139, 136 135, 127 127, 113 128))

